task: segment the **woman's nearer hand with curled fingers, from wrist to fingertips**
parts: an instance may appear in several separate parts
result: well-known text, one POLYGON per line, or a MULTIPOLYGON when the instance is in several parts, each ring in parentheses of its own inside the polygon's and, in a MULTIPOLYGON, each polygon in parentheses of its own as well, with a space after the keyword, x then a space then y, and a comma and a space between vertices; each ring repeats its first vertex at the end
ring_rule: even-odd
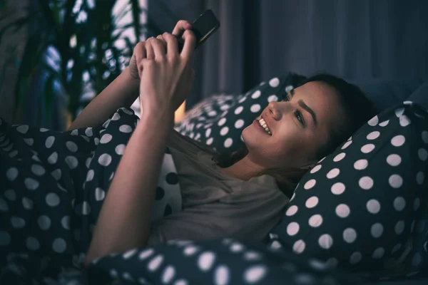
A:
POLYGON ((196 38, 192 31, 186 30, 183 39, 181 53, 177 39, 170 33, 146 41, 146 58, 138 63, 143 67, 140 83, 143 114, 173 113, 190 93, 195 78, 191 61, 196 38))

